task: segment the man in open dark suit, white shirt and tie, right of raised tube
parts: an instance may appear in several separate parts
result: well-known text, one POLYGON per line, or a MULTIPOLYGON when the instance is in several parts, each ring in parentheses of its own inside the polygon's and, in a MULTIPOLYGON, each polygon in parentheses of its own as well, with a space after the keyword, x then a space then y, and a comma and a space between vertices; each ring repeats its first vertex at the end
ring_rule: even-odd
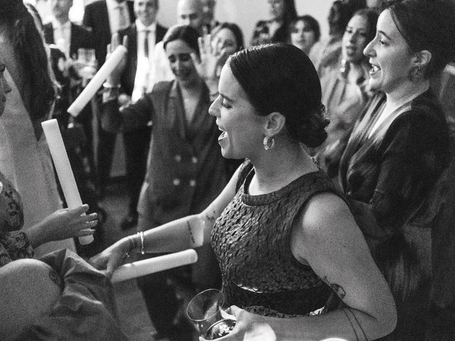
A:
MULTIPOLYGON (((127 61, 120 85, 119 101, 126 105, 136 102, 147 88, 150 70, 149 55, 154 45, 163 40, 167 28, 156 23, 159 0, 134 1, 135 23, 119 31, 120 41, 128 37, 127 61)), ((146 172, 151 129, 146 127, 123 134, 127 161, 129 212, 122 221, 122 229, 137 225, 137 202, 146 172)))

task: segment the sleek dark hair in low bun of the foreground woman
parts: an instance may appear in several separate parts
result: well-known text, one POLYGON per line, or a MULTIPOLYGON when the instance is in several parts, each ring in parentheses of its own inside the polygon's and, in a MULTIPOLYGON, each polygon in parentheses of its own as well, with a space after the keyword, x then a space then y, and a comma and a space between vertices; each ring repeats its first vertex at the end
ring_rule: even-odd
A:
POLYGON ((289 138, 309 147, 325 141, 328 119, 321 104, 321 83, 313 63, 288 44, 240 50, 226 62, 257 113, 279 112, 289 138))

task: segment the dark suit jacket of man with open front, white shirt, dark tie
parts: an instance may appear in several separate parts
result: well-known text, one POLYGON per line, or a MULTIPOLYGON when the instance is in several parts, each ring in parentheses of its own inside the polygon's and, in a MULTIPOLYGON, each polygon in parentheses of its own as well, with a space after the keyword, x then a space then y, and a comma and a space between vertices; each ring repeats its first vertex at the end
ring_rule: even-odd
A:
MULTIPOLYGON (((167 28, 164 26, 156 24, 156 38, 155 43, 163 40, 164 35, 166 34, 167 28)), ((120 84, 122 85, 122 92, 129 94, 133 93, 134 89, 134 80, 136 77, 137 70, 137 29, 136 25, 132 23, 127 28, 119 31, 120 41, 123 40, 123 37, 128 37, 128 53, 127 53, 127 65, 122 74, 122 79, 120 84)))

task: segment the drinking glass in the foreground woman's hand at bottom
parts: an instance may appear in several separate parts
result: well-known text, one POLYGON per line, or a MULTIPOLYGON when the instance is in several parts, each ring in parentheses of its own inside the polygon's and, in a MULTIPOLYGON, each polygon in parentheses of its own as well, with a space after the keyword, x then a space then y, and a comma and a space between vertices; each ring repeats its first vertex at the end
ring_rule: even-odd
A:
POLYGON ((198 293, 188 303, 186 313, 200 337, 215 340, 228 335, 235 327, 235 316, 223 310, 225 297, 217 289, 208 289, 198 293))

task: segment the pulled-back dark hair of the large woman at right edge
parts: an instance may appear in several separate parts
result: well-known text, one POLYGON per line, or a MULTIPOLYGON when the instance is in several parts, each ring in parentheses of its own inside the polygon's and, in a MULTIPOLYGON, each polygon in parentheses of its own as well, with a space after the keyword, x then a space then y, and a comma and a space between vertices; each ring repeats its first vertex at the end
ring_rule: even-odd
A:
POLYGON ((432 53, 424 75, 440 72, 455 59, 455 3, 451 0, 391 1, 387 7, 410 50, 432 53))

